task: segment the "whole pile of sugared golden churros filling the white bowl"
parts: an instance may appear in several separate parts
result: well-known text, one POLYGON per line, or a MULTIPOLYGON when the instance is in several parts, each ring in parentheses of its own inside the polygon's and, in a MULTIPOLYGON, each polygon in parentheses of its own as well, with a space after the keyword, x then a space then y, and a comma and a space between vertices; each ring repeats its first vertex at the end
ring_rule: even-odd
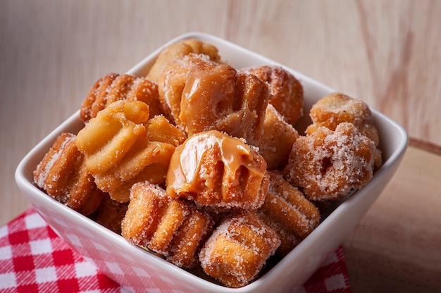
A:
POLYGON ((50 197, 167 261, 243 287, 320 223, 322 203, 366 185, 382 164, 364 102, 313 105, 280 66, 234 68, 185 39, 147 76, 110 73, 34 172, 50 197))

